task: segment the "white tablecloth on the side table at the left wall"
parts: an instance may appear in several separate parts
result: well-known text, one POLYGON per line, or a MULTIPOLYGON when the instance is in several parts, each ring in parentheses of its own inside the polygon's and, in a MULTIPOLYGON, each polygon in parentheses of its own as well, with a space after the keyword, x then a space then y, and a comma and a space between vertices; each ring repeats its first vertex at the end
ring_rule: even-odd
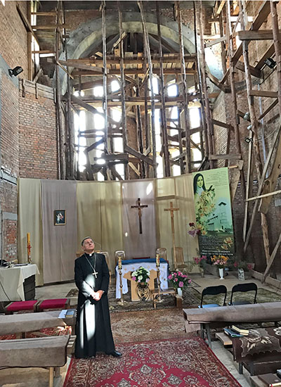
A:
POLYGON ((0 300, 25 301, 25 279, 35 274, 39 274, 35 264, 0 267, 0 300))

